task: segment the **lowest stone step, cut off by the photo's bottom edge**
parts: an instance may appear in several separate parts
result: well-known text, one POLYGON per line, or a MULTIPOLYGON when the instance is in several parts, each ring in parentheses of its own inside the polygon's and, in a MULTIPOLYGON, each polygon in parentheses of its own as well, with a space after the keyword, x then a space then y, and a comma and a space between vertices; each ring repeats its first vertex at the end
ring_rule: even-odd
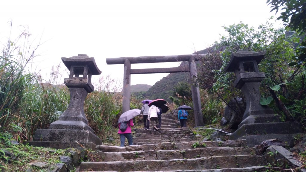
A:
MULTIPOLYGON (((184 170, 183 172, 267 172, 267 171, 282 171, 282 170, 280 170, 277 167, 251 166, 245 168, 222 168, 222 169, 212 169, 212 170, 184 170)), ((285 172, 287 170, 283 171, 285 172)), ((91 171, 91 172, 98 172, 98 171, 91 171)), ((112 172, 117 172, 117 171, 112 171, 112 172)), ((160 171, 133 171, 133 172, 160 172, 160 171)), ((164 170, 163 172, 182 172, 182 170, 171 170, 171 171, 164 170)))

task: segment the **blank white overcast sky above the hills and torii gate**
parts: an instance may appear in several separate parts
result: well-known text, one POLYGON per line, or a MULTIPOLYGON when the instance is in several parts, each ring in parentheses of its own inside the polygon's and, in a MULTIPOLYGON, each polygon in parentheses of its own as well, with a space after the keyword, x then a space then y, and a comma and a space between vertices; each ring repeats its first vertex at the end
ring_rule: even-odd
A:
MULTIPOLYGON (((224 34, 223 25, 240 21, 257 28, 274 15, 267 0, 7 0, 0 6, 0 41, 6 44, 9 23, 12 38, 19 25, 29 28, 41 45, 33 66, 48 80, 53 65, 61 57, 87 54, 102 71, 94 76, 110 76, 122 81, 123 64, 107 65, 106 58, 180 55, 203 50, 224 34)), ((36 42, 33 42, 35 44, 36 42)), ((36 43, 37 44, 37 43, 36 43)), ((62 64, 62 63, 61 63, 62 64)), ((132 64, 132 69, 177 67, 178 62, 132 64)), ((61 69, 66 67, 62 64, 61 69)), ((36 70, 36 71, 37 71, 36 70)), ((68 77, 67 72, 62 72, 68 77)), ((166 77, 162 74, 132 75, 131 85, 149 84, 166 77)))

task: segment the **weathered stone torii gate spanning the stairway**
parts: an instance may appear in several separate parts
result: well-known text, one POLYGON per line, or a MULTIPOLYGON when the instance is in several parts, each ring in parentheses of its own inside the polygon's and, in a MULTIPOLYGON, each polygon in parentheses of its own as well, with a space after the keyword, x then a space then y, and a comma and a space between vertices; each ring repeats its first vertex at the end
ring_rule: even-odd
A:
MULTIPOLYGON (((194 80, 195 77, 197 76, 195 61, 198 61, 199 58, 203 58, 205 56, 207 56, 207 54, 106 58, 106 64, 108 65, 124 64, 122 112, 130 110, 131 74, 190 72, 190 79, 194 80), (189 62, 189 69, 182 69, 181 67, 131 69, 131 64, 160 63, 160 62, 189 62)), ((203 126, 204 123, 201 111, 199 88, 191 86, 191 92, 192 92, 192 103, 193 103, 195 124, 196 126, 203 126)))

